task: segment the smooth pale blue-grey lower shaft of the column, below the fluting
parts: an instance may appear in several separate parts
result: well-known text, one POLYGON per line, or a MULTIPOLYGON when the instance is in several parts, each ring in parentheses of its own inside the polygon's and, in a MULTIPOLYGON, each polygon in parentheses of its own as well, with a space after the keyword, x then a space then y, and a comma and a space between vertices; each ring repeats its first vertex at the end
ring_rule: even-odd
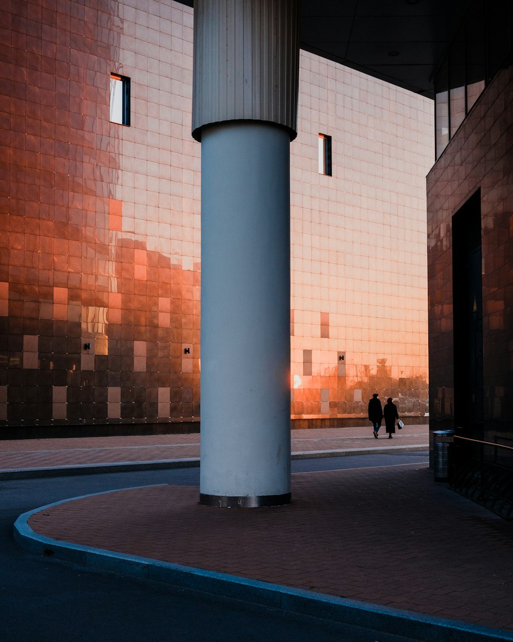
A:
POLYGON ((290 501, 289 134, 201 137, 200 501, 290 501))

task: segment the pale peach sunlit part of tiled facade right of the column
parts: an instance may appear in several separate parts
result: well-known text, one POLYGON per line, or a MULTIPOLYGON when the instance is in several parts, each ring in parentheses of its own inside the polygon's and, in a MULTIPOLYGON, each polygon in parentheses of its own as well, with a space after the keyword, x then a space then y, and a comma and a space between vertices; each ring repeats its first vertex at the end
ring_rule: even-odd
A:
POLYGON ((361 424, 376 391, 404 415, 424 417, 432 103, 309 53, 299 87, 292 416, 361 424), (318 132, 332 136, 331 177, 318 172, 318 132))

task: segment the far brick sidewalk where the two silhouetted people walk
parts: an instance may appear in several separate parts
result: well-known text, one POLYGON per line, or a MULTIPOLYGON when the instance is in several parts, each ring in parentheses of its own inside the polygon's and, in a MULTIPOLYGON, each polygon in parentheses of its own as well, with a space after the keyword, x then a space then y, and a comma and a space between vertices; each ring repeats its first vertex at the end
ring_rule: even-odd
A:
MULTIPOLYGON (((292 453, 332 453, 351 449, 427 447, 428 426, 405 426, 387 440, 384 428, 374 439, 372 426, 292 430, 292 453)), ((9 470, 151 462, 199 457, 199 434, 140 435, 0 440, 0 472, 9 470)))

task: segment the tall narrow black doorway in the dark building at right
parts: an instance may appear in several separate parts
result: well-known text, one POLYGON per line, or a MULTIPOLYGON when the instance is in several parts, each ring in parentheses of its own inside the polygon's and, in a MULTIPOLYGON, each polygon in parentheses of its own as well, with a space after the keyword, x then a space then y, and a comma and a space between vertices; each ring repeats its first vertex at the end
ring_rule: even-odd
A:
POLYGON ((483 299, 481 192, 453 216, 455 426, 483 438, 483 299))

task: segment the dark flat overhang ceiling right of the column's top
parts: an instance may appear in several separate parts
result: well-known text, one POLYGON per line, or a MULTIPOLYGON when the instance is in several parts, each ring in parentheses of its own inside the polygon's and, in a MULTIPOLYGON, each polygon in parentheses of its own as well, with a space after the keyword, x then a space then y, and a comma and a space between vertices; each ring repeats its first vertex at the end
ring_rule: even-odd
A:
POLYGON ((433 98, 437 68, 473 0, 299 3, 302 49, 433 98))

